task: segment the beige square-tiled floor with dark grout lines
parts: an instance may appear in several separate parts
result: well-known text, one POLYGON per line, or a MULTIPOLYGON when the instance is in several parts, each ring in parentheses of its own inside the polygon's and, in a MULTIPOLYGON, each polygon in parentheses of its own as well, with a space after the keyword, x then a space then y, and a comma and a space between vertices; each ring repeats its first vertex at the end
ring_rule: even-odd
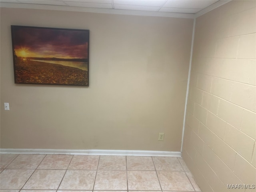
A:
POLYGON ((177 157, 1 154, 0 172, 1 192, 201 191, 177 157))

